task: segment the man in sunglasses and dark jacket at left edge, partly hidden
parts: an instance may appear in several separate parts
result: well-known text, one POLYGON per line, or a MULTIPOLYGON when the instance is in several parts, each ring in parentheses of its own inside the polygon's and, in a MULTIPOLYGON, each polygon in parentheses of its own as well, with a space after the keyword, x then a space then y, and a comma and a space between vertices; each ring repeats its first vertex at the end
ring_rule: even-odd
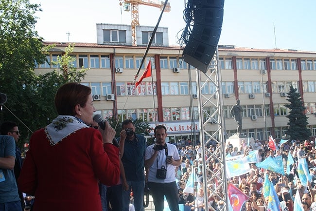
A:
MULTIPOLYGON (((20 138, 20 133, 18 130, 18 124, 13 121, 5 121, 2 122, 0 126, 0 134, 1 135, 10 135, 14 138, 16 142, 16 161, 14 164, 14 175, 16 177, 16 181, 20 176, 21 168, 22 168, 22 157, 21 151, 18 148, 18 139, 20 138)), ((22 210, 24 209, 24 197, 22 192, 18 192, 18 195, 21 199, 22 210)))

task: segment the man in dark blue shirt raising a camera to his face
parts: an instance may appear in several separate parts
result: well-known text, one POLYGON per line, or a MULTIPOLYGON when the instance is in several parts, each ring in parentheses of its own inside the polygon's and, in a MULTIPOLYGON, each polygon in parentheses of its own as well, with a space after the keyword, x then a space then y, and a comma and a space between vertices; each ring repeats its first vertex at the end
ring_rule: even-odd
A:
POLYGON ((135 134, 135 126, 130 119, 123 121, 122 129, 118 141, 120 144, 120 157, 125 171, 125 179, 122 179, 123 211, 129 211, 131 190, 133 191, 135 211, 144 211, 146 139, 143 135, 135 134))

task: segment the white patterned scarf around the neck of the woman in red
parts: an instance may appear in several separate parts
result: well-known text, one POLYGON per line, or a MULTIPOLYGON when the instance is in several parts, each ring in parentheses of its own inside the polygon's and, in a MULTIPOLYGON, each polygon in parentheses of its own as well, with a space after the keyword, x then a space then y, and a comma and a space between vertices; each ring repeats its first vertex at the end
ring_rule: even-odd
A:
POLYGON ((82 129, 88 128, 81 119, 71 115, 58 115, 53 122, 45 127, 45 134, 51 145, 58 144, 68 135, 82 129))

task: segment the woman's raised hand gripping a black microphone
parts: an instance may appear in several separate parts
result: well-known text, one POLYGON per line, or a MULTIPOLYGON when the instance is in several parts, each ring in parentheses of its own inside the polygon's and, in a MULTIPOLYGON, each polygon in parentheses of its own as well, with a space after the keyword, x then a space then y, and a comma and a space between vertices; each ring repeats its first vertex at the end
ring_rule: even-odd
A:
POLYGON ((99 124, 99 127, 102 129, 101 134, 103 138, 103 143, 111 143, 116 147, 119 147, 119 144, 115 138, 115 130, 109 125, 109 123, 102 119, 102 116, 96 114, 93 116, 93 121, 99 124), (105 130, 106 129, 106 130, 105 130))

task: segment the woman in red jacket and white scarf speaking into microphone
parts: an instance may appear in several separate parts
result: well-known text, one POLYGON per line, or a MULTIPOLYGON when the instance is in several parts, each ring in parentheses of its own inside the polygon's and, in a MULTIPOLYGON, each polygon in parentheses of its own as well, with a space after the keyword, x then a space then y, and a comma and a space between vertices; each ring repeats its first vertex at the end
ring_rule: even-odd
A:
POLYGON ((105 131, 88 126, 95 108, 87 86, 63 85, 55 106, 59 115, 31 137, 18 188, 35 196, 33 211, 102 211, 98 181, 120 178, 115 131, 107 122, 105 131))

